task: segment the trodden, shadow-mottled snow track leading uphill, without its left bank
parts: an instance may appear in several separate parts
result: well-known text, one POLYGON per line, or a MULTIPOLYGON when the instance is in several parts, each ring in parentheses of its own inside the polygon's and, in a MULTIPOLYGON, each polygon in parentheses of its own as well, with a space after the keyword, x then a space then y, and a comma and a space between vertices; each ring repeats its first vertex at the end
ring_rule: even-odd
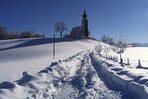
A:
MULTIPOLYGON (((57 96, 54 97, 55 99, 61 99, 61 96, 67 96, 66 99, 71 99, 71 97, 78 99, 121 98, 119 93, 109 90, 104 83, 100 81, 96 71, 91 65, 88 53, 83 55, 83 59, 80 59, 80 64, 77 65, 77 67, 79 67, 79 69, 76 71, 76 75, 68 78, 70 79, 67 82, 68 84, 66 84, 66 86, 65 83, 63 84, 65 88, 59 91, 57 96), (67 89, 72 89, 74 91, 68 91, 68 93, 66 93, 67 89)), ((65 99, 65 97, 63 98, 65 99)))

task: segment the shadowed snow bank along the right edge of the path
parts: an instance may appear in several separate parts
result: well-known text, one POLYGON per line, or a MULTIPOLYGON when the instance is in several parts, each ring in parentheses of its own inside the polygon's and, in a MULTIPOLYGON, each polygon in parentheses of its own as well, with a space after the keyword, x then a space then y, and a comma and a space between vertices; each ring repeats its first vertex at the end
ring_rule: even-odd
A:
POLYGON ((110 83, 115 83, 120 89, 127 93, 131 93, 140 99, 148 98, 148 74, 145 69, 136 69, 129 65, 120 66, 119 63, 109 59, 100 57, 94 51, 91 54, 92 60, 95 62, 95 68, 101 75, 108 79, 110 83))

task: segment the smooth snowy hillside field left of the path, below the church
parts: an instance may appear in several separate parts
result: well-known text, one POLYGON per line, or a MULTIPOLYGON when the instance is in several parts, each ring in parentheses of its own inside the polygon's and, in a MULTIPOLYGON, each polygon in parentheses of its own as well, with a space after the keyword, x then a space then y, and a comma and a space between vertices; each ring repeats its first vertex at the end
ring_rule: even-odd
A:
MULTIPOLYGON (((97 44, 92 40, 59 41, 56 43, 55 60, 93 49, 97 44)), ((52 45, 52 39, 48 38, 0 41, 0 81, 14 81, 24 71, 34 74, 49 66, 53 61, 52 45)))

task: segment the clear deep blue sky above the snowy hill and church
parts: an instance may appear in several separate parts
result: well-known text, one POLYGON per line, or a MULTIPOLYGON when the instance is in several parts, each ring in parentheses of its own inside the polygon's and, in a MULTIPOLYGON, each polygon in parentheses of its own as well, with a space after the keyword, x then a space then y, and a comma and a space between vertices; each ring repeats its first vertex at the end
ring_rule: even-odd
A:
POLYGON ((57 21, 69 31, 80 25, 84 9, 92 37, 148 42, 148 0, 0 0, 0 25, 51 37, 57 21))

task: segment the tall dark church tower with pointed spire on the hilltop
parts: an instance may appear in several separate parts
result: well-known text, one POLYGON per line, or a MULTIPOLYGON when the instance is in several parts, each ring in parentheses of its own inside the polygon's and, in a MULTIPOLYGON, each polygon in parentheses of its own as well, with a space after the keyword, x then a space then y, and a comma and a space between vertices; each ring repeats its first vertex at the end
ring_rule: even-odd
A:
POLYGON ((87 15, 86 15, 85 10, 84 10, 83 19, 82 19, 82 32, 83 32, 85 37, 88 37, 88 35, 89 35, 89 32, 88 32, 88 19, 87 19, 87 15))

